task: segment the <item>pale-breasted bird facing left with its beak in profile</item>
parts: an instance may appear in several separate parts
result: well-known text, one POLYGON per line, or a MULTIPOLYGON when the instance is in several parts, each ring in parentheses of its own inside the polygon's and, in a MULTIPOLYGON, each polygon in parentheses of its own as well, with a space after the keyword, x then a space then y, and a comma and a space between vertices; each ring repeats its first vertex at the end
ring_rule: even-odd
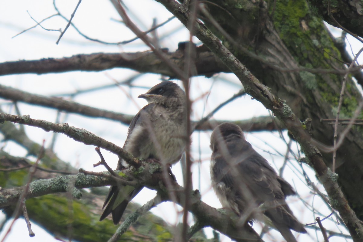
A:
MULTIPOLYGON (((163 81, 138 98, 146 99, 148 104, 132 119, 123 148, 134 157, 154 159, 170 169, 170 165, 177 163, 185 150, 185 93, 175 82, 163 81)), ((117 170, 126 167, 128 164, 119 158, 117 170)), ((113 223, 117 225, 127 204, 142 188, 111 186, 100 221, 111 213, 113 223)))

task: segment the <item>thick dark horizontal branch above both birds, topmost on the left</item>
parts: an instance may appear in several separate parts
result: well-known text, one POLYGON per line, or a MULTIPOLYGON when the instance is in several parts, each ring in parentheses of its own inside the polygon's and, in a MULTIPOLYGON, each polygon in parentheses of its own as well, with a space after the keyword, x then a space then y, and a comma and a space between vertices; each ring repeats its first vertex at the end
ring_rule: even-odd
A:
MULTIPOLYGON (((183 45, 181 45, 183 46, 183 45)), ((181 70, 184 69, 184 50, 176 52, 163 50, 168 61, 174 63, 181 70)), ((215 73, 229 70, 218 58, 206 48, 197 48, 196 53, 197 75, 212 76, 215 73)), ((31 61, 9 61, 0 63, 0 75, 14 74, 46 74, 67 71, 101 71, 116 67, 130 68, 143 73, 157 73, 175 77, 174 72, 153 53, 94 53, 79 54, 67 58, 48 58, 31 61)), ((196 73, 193 73, 194 75, 196 73)))

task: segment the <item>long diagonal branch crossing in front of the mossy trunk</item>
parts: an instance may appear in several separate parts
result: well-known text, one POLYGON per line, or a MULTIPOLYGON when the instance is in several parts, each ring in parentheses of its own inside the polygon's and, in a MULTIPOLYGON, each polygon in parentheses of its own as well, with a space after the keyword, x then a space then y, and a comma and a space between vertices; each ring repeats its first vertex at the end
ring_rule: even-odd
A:
MULTIPOLYGON (((183 5, 176 1, 158 0, 173 15, 175 15, 185 26, 189 26, 191 13, 183 5)), ((200 21, 195 22, 194 33, 204 45, 219 57, 223 63, 240 79, 245 90, 253 98, 260 101, 266 108, 273 111, 274 115, 285 123, 287 129, 293 134, 299 142, 305 155, 313 164, 319 180, 326 189, 331 204, 337 209, 344 223, 346 224, 354 241, 361 241, 363 238, 363 226, 356 217, 354 211, 348 205, 342 190, 337 183, 336 174, 331 173, 322 159, 318 148, 311 142, 311 137, 302 127, 299 119, 295 116, 289 106, 284 101, 275 97, 274 94, 254 77, 248 69, 233 54, 221 44, 220 40, 200 21)))

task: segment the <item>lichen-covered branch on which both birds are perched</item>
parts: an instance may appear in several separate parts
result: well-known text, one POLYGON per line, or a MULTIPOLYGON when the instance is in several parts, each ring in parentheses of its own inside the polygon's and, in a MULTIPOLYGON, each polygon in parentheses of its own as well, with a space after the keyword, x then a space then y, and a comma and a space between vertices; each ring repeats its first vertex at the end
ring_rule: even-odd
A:
MULTIPOLYGON (((146 163, 142 162, 142 167, 145 168, 144 172, 139 173, 134 181, 140 182, 151 189, 156 189, 162 194, 162 200, 170 201, 168 192, 164 185, 160 185, 160 181, 163 180, 163 174, 160 172, 160 165, 158 163, 146 163), (149 167, 149 169, 147 169, 149 167), (152 173, 151 171, 156 171, 152 173), (152 173, 152 174, 151 174, 152 173)), ((119 171, 115 171, 119 172, 119 171)), ((127 176, 134 177, 135 169, 128 168, 122 171, 127 176)), ((105 172, 105 174, 107 174, 105 172)), ((45 194, 67 192, 70 188, 82 189, 95 186, 114 185, 115 181, 112 178, 91 176, 91 175, 69 175, 58 176, 48 180, 37 180, 30 183, 29 191, 26 194, 26 198, 34 198, 43 196, 45 194)), ((2 189, 0 190, 0 208, 12 205, 19 199, 21 193, 24 190, 24 186, 18 188, 2 189)), ((172 187, 175 191, 178 204, 182 204, 184 201, 185 193, 184 188, 178 184, 174 184, 172 187)), ((203 221, 206 225, 212 226, 214 229, 228 235, 229 237, 236 239, 236 241, 260 241, 262 239, 248 224, 238 224, 238 217, 232 214, 230 211, 217 210, 208 206, 200 200, 200 194, 198 191, 190 191, 191 208, 192 212, 200 221, 203 221)))

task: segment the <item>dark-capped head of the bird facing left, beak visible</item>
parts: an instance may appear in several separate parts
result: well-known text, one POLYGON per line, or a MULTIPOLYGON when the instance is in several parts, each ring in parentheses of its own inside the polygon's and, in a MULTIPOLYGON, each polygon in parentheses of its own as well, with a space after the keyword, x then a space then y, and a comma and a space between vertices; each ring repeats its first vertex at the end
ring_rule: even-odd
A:
POLYGON ((152 87, 138 98, 144 98, 148 103, 155 103, 165 107, 178 107, 185 104, 184 91, 174 82, 164 81, 152 87))

